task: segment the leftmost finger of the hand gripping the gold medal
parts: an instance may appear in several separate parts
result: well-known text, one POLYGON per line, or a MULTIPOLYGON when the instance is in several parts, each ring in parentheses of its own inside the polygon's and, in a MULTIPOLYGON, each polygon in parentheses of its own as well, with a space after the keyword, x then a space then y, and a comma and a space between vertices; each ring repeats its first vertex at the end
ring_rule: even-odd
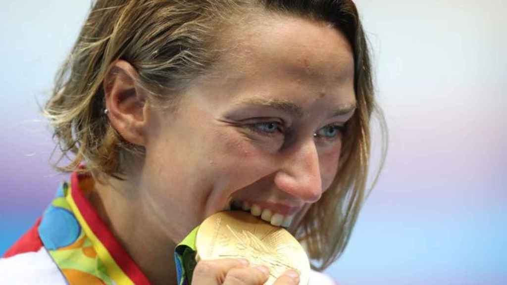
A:
POLYGON ((231 269, 247 266, 246 259, 201 260, 194 269, 192 284, 220 285, 231 269))

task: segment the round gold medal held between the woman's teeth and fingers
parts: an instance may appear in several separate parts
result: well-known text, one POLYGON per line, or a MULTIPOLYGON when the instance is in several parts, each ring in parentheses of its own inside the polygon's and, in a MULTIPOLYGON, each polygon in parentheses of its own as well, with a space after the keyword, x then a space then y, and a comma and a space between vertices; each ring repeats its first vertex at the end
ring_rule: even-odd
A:
POLYGON ((310 262, 301 244, 281 227, 243 211, 223 211, 208 217, 196 236, 197 258, 214 260, 244 258, 251 266, 269 267, 273 284, 285 270, 300 274, 300 285, 307 285, 310 262))

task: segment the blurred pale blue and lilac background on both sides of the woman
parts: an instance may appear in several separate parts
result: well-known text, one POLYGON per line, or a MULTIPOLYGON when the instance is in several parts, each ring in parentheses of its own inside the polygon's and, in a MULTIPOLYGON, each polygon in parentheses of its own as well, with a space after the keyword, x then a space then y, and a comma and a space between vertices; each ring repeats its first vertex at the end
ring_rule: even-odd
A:
MULTIPOLYGON (((327 273, 341 285, 507 284, 506 3, 356 4, 389 152, 327 273)), ((54 144, 40 105, 89 7, 89 0, 2 0, 0 254, 66 179, 48 164, 54 144)))

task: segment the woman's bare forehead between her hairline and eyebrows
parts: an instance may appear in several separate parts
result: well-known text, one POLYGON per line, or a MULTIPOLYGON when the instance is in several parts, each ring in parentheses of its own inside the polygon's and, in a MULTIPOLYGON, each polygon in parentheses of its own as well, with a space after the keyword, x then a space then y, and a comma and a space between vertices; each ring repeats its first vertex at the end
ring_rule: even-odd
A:
POLYGON ((355 102, 351 47, 326 23, 269 14, 238 24, 224 38, 223 56, 207 82, 222 90, 222 100, 276 96, 300 105, 322 98, 335 106, 355 102))

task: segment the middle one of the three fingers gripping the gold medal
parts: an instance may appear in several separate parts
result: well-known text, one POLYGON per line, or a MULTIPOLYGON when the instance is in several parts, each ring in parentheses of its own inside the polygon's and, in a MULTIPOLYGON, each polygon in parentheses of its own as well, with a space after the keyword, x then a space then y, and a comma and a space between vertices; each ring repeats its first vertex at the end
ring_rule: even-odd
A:
POLYGON ((223 285, 262 285, 269 278, 266 266, 233 268, 225 277, 223 285))

